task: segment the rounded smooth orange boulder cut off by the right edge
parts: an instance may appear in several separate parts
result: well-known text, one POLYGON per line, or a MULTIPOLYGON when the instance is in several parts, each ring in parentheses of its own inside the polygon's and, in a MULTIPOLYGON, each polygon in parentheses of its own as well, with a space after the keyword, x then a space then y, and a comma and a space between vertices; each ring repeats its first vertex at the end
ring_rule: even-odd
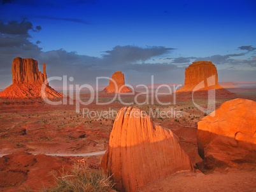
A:
POLYGON ((234 99, 198 122, 198 152, 208 168, 256 160, 256 102, 234 99))

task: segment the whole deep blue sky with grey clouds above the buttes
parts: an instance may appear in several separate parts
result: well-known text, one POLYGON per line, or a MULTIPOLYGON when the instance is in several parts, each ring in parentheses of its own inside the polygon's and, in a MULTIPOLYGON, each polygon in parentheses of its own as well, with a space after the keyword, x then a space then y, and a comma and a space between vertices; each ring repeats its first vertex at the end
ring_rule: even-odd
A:
POLYGON ((0 88, 11 85, 15 57, 79 85, 115 71, 131 85, 152 75, 183 83, 197 60, 213 62, 219 81, 256 81, 255 24, 254 0, 0 0, 0 88))

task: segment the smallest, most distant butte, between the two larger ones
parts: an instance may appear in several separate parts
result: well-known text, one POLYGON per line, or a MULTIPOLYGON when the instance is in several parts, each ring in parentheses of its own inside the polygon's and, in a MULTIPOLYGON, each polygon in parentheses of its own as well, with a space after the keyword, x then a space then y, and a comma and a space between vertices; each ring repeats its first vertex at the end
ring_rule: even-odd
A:
POLYGON ((110 78, 110 85, 106 86, 104 91, 107 93, 127 93, 132 90, 128 86, 125 86, 124 73, 117 71, 112 75, 112 78, 110 78))

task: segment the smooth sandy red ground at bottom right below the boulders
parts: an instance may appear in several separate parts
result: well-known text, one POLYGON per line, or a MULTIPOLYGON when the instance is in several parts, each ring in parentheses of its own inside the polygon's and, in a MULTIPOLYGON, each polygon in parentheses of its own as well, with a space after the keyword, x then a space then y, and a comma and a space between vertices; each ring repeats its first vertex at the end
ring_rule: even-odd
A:
POLYGON ((137 191, 256 191, 255 183, 255 170, 227 168, 212 174, 177 173, 152 181, 137 191))

